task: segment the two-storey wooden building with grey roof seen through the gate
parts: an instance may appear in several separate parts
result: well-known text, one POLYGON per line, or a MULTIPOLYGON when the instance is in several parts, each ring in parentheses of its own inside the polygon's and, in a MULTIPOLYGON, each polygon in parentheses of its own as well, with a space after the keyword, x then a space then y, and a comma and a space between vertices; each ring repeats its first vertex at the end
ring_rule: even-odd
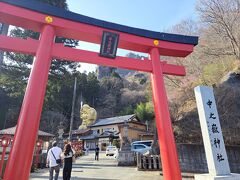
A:
MULTIPOLYGON (((141 123, 135 114, 132 114, 98 119, 89 126, 92 134, 81 136, 80 139, 84 141, 84 147, 95 149, 98 144, 101 150, 105 150, 108 145, 111 145, 111 138, 118 139, 121 143, 124 124, 128 126, 128 139, 130 142, 142 140, 143 134, 149 134, 146 124, 141 123)), ((147 138, 153 139, 153 135, 147 138)))

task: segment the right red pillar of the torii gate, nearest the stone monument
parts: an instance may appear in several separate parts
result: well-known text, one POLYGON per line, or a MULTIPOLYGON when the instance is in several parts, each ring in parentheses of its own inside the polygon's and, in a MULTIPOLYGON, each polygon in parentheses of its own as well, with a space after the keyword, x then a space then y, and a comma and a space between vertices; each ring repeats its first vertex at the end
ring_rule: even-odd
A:
POLYGON ((153 48, 150 57, 153 67, 151 73, 153 103, 164 179, 180 180, 182 178, 168 109, 167 94, 164 87, 159 50, 153 48))

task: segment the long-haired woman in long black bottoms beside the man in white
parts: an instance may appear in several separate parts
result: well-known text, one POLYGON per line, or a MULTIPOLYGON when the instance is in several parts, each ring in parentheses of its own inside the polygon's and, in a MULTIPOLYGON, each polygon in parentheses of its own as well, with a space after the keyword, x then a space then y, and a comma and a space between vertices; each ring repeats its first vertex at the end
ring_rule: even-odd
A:
POLYGON ((70 180, 72 172, 73 156, 75 155, 70 144, 64 146, 63 158, 63 180, 70 180))

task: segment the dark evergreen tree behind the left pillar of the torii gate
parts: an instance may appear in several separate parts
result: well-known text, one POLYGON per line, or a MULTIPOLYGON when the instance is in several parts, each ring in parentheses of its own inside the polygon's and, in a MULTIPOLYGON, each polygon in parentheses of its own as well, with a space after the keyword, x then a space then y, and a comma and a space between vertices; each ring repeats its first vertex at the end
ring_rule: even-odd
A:
MULTIPOLYGON (((68 10, 66 0, 39 1, 68 10)), ((40 35, 39 32, 33 32, 31 30, 15 27, 11 30, 10 36, 23 39, 32 38, 38 40, 40 35)), ((56 37, 55 43, 63 43, 68 47, 75 47, 78 45, 78 41, 62 37, 56 37)), ((7 127, 12 126, 13 124, 15 125, 18 119, 18 112, 25 93, 32 63, 33 56, 31 55, 12 52, 6 53, 6 60, 1 66, 2 71, 0 74, 0 88, 3 93, 0 94, 0 99, 6 99, 5 96, 7 96, 11 99, 11 101, 8 101, 8 106, 4 107, 4 112, 6 112, 7 115, 1 116, 0 120, 3 122, 5 121, 5 118, 7 118, 7 127), (10 114, 9 112, 17 113, 14 113, 14 116, 12 116, 13 113, 10 114)), ((64 94, 64 92, 67 91, 66 89, 71 87, 70 79, 74 79, 72 75, 77 72, 78 67, 79 63, 76 62, 64 60, 60 61, 57 59, 52 60, 45 96, 44 110, 57 109, 58 111, 68 115, 68 109, 66 110, 65 107, 66 103, 68 102, 64 102, 64 98, 63 96, 60 96, 60 94, 64 94), (69 85, 69 87, 67 87, 67 85, 69 85), (62 101, 62 103, 59 103, 59 101, 62 101)), ((70 94, 72 94, 72 92, 70 94)), ((3 106, 0 107, 0 111, 3 111, 3 106)))

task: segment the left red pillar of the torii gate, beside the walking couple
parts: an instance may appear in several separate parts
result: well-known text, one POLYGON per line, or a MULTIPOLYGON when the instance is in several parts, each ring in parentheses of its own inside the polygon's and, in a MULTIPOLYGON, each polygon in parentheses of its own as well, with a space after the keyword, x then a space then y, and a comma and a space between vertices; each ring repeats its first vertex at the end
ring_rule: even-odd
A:
POLYGON ((48 80, 48 72, 52 60, 51 51, 54 36, 54 28, 50 25, 45 25, 41 33, 36 59, 33 62, 28 80, 18 118, 18 126, 14 135, 14 148, 12 148, 11 155, 8 159, 4 180, 23 180, 29 177, 29 169, 32 164, 34 145, 37 140, 36 134, 39 128, 48 80))

